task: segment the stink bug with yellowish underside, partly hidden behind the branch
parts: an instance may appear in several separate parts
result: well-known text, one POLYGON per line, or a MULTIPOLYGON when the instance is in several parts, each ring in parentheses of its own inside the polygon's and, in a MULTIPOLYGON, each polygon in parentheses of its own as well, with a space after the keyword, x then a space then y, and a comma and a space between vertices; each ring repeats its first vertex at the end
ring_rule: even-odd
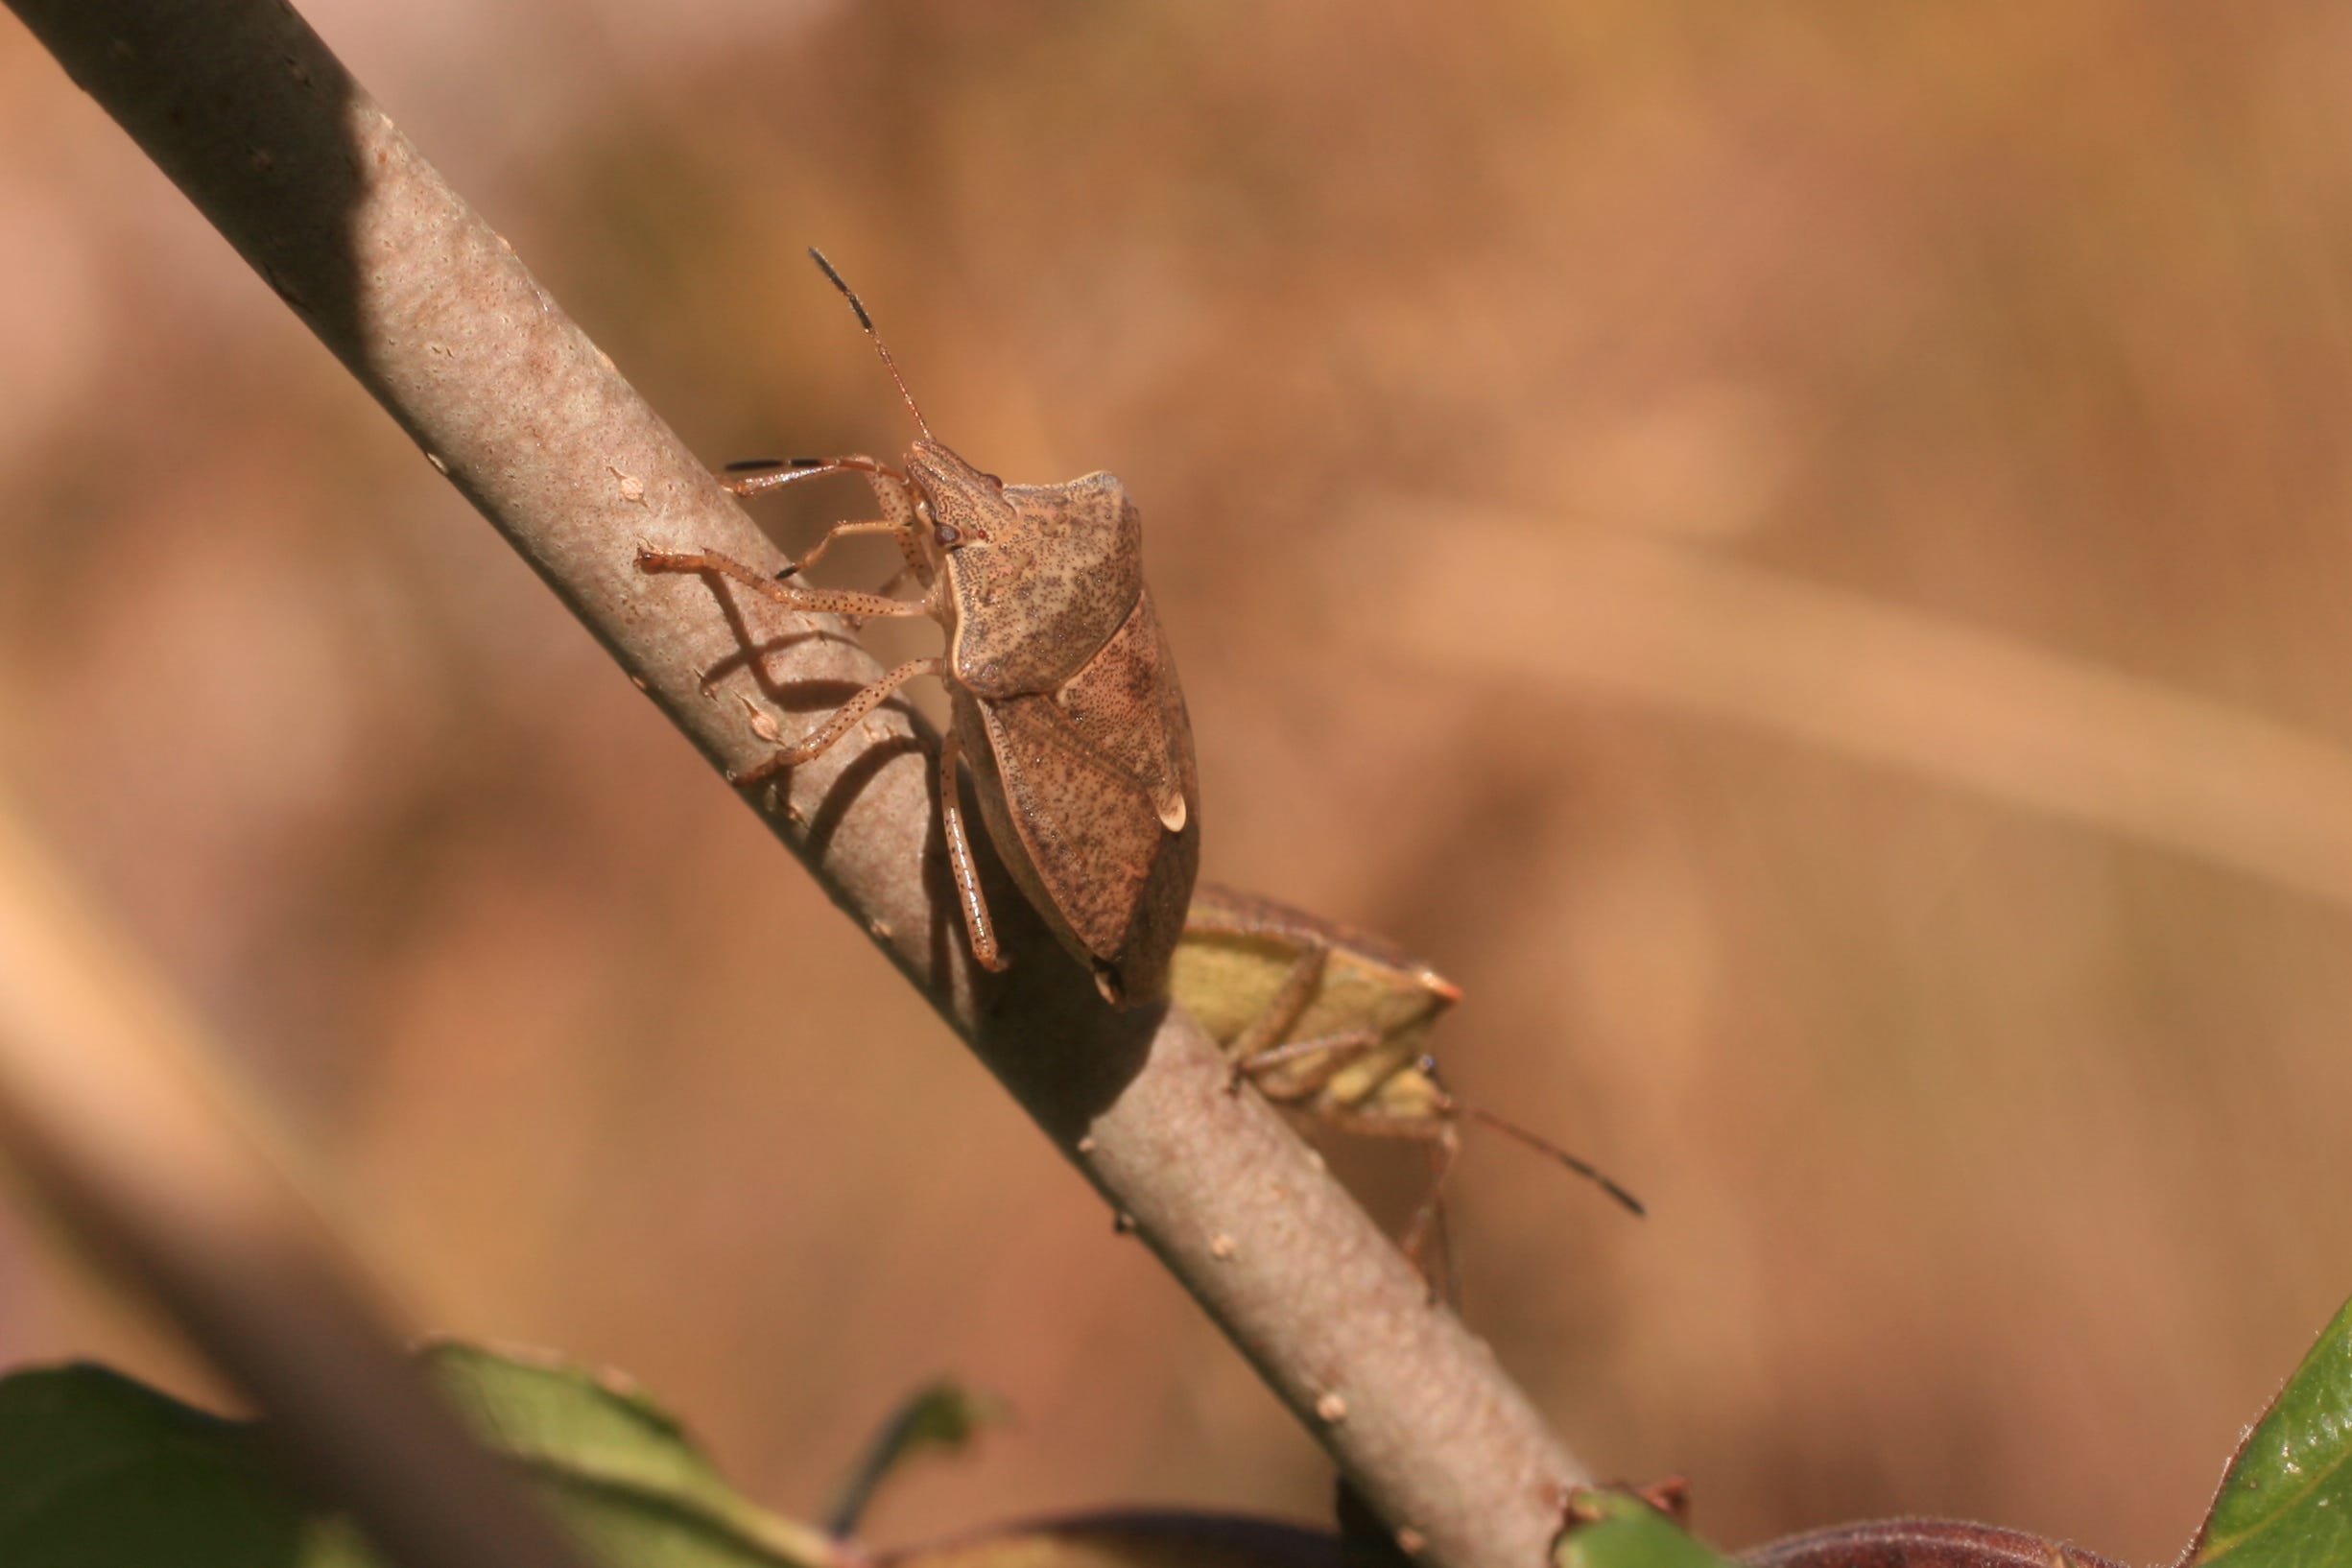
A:
POLYGON ((1444 1237, 1444 1180, 1465 1119, 1548 1154, 1642 1213, 1590 1161, 1437 1081, 1425 1041, 1461 990, 1378 936, 1204 882, 1169 987, 1225 1046, 1235 1086, 1256 1084, 1275 1105, 1322 1126, 1411 1138, 1428 1150, 1430 1187, 1402 1239, 1416 1265, 1430 1237, 1444 1237))

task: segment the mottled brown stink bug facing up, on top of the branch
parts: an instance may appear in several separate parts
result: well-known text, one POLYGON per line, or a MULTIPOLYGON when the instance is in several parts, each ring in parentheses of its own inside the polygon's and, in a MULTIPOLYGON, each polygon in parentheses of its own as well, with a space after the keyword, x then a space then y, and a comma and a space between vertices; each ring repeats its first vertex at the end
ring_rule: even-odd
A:
POLYGON ((1094 971, 1103 997, 1120 1006, 1164 997, 1200 867, 1200 778, 1176 661, 1143 588, 1143 517, 1108 473, 1007 484, 938 444, 866 306, 823 254, 809 254, 858 313, 915 416, 917 440, 903 468, 870 456, 753 463, 741 468, 764 473, 734 477, 727 489, 753 496, 823 473, 861 473, 882 517, 835 524, 779 578, 724 555, 642 550, 637 567, 717 574, 800 611, 931 616, 948 632, 948 651, 898 665, 734 783, 762 783, 821 755, 891 691, 936 675, 953 710, 938 748, 938 806, 971 954, 1004 969, 964 830, 960 757, 971 762, 997 856, 1063 947, 1094 971), (913 576, 922 595, 894 599, 790 581, 842 534, 891 534, 906 555, 901 576, 913 576))

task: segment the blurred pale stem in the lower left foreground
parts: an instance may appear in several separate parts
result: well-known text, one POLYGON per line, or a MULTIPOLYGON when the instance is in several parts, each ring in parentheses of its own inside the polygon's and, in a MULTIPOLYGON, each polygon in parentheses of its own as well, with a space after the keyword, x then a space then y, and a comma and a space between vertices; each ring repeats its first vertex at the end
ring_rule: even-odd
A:
POLYGON ((579 1568, 423 1387, 343 1255, 240 1131, 165 990, 0 809, 0 1145, 162 1302, 282 1450, 409 1568, 579 1568))

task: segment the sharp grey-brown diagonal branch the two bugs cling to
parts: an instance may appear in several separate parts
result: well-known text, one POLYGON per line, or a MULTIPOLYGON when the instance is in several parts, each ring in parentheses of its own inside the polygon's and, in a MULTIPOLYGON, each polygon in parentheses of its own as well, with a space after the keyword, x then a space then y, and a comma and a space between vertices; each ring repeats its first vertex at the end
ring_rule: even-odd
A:
MULTIPOLYGON (((746 639, 811 701, 877 675, 830 621, 633 569, 781 557, 289 7, 9 2, 713 762, 771 750, 701 689, 746 639)), ((1002 877, 1016 961, 974 976, 924 745, 882 710, 755 804, 1409 1544, 1534 1568, 1576 1462, 1211 1041, 1108 1011, 1002 877)))

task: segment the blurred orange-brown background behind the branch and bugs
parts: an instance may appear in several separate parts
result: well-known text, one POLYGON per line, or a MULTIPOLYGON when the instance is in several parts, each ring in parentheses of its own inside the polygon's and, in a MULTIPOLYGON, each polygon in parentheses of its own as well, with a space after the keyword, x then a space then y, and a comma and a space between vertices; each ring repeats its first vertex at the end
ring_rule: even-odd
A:
MULTIPOLYGON (((306 12, 710 456, 1117 470, 1209 875, 1395 933, 1472 1324, 1726 1544, 2169 1559, 2352 1293, 2352 16, 306 12)), ((1317 1516, 1190 1305, 0 24, 0 780, 421 1326, 884 1540, 1317 1516)), ((858 491, 774 512, 793 538, 858 491)), ((880 581, 882 555, 835 557, 880 581)), ((1385 1201, 1409 1159, 1350 1159, 1385 1201)), ((0 1218, 0 1359, 202 1380, 0 1218)))

